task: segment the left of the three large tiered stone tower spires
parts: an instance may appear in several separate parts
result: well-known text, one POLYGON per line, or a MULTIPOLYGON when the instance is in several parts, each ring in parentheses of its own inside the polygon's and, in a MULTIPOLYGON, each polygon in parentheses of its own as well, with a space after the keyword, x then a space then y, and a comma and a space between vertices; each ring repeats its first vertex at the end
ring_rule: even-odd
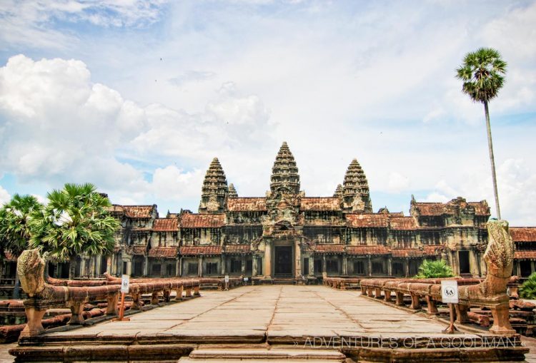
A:
POLYGON ((227 193, 225 173, 218 158, 214 158, 204 175, 199 213, 222 213, 227 193))

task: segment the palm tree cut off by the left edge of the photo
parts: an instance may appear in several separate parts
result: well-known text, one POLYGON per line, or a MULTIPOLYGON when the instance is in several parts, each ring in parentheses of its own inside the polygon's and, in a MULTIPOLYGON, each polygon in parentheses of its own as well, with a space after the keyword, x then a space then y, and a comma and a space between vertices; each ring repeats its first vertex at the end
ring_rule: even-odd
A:
MULTIPOLYGON (((0 208, 0 263, 4 264, 6 252, 20 255, 28 247, 31 237, 31 215, 42 210, 43 205, 33 195, 15 194, 0 208)), ((14 298, 19 298, 19 275, 15 272, 14 298)))

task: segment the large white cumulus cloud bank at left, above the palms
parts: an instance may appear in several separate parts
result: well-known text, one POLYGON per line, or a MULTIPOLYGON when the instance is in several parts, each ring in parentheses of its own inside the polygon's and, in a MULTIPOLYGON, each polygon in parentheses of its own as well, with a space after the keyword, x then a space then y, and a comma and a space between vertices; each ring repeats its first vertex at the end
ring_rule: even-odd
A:
POLYGON ((247 149, 254 136, 269 140, 261 135, 269 112, 258 96, 233 83, 214 95, 204 113, 142 108, 93 83, 81 61, 14 56, 0 68, 0 168, 22 182, 89 181, 121 203, 197 199, 204 171, 144 170, 137 162, 183 158, 208 166, 227 145, 247 149))

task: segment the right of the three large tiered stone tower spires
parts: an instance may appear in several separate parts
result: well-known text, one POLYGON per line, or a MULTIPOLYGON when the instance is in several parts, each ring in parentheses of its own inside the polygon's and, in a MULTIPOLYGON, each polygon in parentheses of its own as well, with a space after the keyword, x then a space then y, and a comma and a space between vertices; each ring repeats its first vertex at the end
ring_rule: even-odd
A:
POLYGON ((369 183, 357 159, 352 160, 344 175, 342 198, 345 210, 372 213, 369 183))

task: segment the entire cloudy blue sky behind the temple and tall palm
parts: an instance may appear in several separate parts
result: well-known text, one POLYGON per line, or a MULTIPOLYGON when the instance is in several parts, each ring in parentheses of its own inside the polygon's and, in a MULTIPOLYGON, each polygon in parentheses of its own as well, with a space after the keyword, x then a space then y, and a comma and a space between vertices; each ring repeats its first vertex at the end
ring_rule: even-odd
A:
POLYGON ((535 1, 2 1, 0 201, 90 181, 112 203, 197 210, 217 156, 264 195, 286 140, 306 195, 352 158, 374 210, 461 195, 493 209, 468 51, 497 48, 503 218, 536 225, 535 1))

